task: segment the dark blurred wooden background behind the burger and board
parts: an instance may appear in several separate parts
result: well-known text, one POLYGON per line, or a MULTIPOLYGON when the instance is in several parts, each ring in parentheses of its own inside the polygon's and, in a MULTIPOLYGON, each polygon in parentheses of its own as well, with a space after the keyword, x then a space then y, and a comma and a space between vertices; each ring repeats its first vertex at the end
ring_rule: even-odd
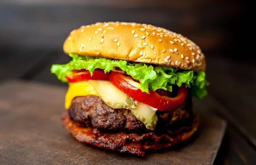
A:
MULTIPOLYGON (((0 81, 66 85, 49 72, 70 58, 71 30, 98 21, 148 23, 197 43, 207 59, 209 94, 228 122, 217 161, 256 163, 256 56, 253 6, 244 0, 0 0, 0 81)), ((204 100, 203 100, 204 101, 204 100)))

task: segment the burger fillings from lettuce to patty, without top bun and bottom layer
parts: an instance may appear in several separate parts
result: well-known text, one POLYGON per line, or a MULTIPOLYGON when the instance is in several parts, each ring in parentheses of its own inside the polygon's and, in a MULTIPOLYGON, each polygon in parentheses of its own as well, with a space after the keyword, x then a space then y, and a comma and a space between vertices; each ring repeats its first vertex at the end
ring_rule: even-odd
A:
POLYGON ((70 118, 87 127, 170 130, 178 121, 191 118, 187 102, 192 95, 198 99, 207 95, 203 71, 76 54, 70 57, 70 63, 52 65, 51 72, 69 83, 65 108, 70 118))

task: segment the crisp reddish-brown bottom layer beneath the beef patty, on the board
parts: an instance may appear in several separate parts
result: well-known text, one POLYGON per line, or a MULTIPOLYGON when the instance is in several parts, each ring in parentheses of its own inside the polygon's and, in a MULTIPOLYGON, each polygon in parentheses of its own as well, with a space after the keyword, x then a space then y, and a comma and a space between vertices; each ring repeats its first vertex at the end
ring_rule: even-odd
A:
POLYGON ((139 156, 144 156, 146 150, 168 148, 186 141, 197 131, 199 125, 199 118, 195 116, 190 127, 180 127, 172 134, 156 134, 154 131, 148 131, 139 135, 137 133, 125 133, 124 131, 107 133, 93 127, 85 128, 71 120, 67 112, 63 114, 62 121, 64 128, 79 142, 139 156))

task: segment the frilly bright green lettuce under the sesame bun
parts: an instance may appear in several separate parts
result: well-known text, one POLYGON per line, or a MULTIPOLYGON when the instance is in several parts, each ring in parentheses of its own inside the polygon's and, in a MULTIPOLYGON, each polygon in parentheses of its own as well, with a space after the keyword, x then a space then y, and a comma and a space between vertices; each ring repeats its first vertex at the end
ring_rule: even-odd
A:
POLYGON ((96 68, 104 69, 105 73, 112 71, 114 67, 120 68, 128 75, 140 81, 141 90, 149 93, 164 89, 172 91, 172 85, 181 86, 185 84, 187 88, 192 88, 192 94, 198 99, 207 95, 206 87, 209 85, 205 79, 204 71, 186 71, 177 68, 150 65, 145 63, 128 62, 126 60, 113 60, 103 57, 78 56, 70 53, 73 58, 65 65, 52 65, 51 73, 55 74, 62 82, 67 82, 65 76, 72 74, 72 69, 86 69, 91 75, 96 68))

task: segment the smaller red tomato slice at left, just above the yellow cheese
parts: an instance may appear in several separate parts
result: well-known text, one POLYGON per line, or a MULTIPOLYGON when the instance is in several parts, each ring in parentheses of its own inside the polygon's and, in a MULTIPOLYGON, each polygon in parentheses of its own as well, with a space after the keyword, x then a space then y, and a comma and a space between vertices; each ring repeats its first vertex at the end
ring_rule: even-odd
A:
POLYGON ((93 75, 90 75, 90 71, 81 71, 74 74, 66 76, 69 83, 75 83, 85 80, 108 80, 109 73, 104 73, 104 71, 96 70, 93 71, 93 75))

